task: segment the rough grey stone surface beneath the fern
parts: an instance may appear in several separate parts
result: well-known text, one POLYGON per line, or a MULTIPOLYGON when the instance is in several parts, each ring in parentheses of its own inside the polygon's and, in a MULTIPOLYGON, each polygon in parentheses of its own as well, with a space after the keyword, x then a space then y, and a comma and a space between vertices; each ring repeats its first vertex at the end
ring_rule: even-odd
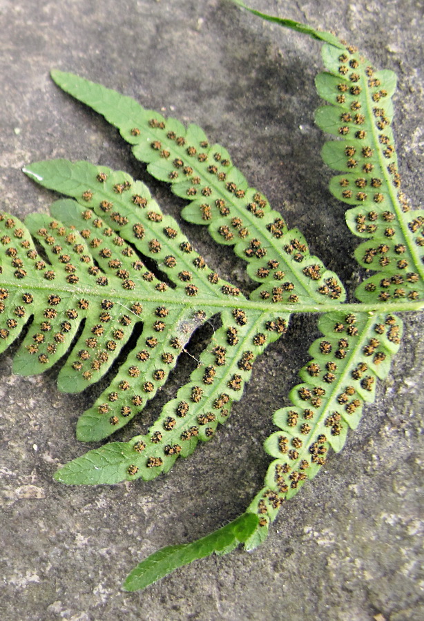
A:
MULTIPOLYGON (((251 4, 334 28, 377 67, 398 73, 394 128, 403 185, 420 206, 421 1, 251 4)), ((354 287, 356 266, 346 257, 356 240, 340 236, 343 206, 327 190, 331 173, 319 157, 324 137, 313 123, 319 43, 220 0, 0 0, 0 32, 1 208, 20 217, 47 211, 52 194, 21 173, 38 159, 88 159, 147 179, 117 132, 48 77, 51 68, 70 70, 203 126, 354 287)), ((182 201, 148 182, 177 216, 182 201)), ((211 266, 249 288, 231 250, 215 248, 200 228, 185 224, 184 230, 211 266)), ((197 562, 143 593, 120 590, 139 560, 209 533, 249 504, 268 464, 261 444, 272 429, 271 413, 287 404, 316 337, 315 319, 297 318, 287 338, 267 351, 215 440, 148 484, 53 482, 58 463, 84 452, 75 422, 99 388, 61 394, 57 369, 13 375, 11 348, 0 357, 1 619, 422 620, 423 352, 420 317, 405 322, 402 349, 392 377, 378 388, 378 402, 366 408, 343 452, 332 454, 325 471, 285 504, 267 542, 254 553, 197 562)), ((183 361, 181 373, 190 364, 183 361)), ((131 431, 159 407, 157 400, 131 431)))

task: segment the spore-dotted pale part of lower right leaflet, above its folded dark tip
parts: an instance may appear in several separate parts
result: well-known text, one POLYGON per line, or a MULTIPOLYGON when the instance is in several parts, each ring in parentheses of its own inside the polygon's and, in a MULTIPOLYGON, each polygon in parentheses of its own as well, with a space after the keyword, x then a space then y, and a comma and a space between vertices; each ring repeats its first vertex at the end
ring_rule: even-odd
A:
POLYGON ((401 319, 386 313, 321 315, 323 338, 309 348, 312 356, 302 371, 302 384, 289 395, 293 406, 273 416, 280 428, 268 437, 264 449, 275 457, 265 477, 265 487, 247 511, 259 517, 258 529, 246 543, 256 547, 267 535, 284 500, 298 493, 327 459, 331 447, 338 452, 347 430, 358 426, 364 402, 373 402, 376 380, 389 373, 402 335, 401 319))

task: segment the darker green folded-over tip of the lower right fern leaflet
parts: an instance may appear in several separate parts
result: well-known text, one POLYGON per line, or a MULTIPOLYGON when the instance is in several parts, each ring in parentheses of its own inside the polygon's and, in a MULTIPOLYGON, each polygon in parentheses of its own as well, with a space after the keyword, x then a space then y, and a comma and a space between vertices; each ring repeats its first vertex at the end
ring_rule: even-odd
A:
POLYGON ((251 536, 256 529, 258 517, 253 513, 243 513, 233 522, 190 544, 167 546, 151 554, 139 563, 124 582, 126 591, 145 589, 160 580, 174 569, 215 553, 226 553, 251 536))

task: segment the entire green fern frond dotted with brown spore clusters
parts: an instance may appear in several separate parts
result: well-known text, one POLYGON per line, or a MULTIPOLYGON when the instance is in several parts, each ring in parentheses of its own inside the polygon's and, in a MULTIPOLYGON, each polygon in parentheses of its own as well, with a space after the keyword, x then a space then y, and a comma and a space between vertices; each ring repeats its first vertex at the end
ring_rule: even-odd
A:
POLYGON ((376 72, 333 34, 251 12, 325 41, 327 72, 316 85, 331 105, 318 109, 316 122, 339 139, 325 144, 322 157, 343 173, 330 189, 350 206, 350 230, 365 239, 356 259, 376 272, 356 290, 360 304, 343 304, 338 276, 309 253, 302 234, 287 227, 201 128, 185 128, 72 74, 54 71, 52 77, 119 129, 148 172, 189 202, 182 217, 207 226, 218 244, 233 246, 258 286, 247 298, 220 279, 144 184, 104 166, 64 159, 30 164, 27 175, 69 198, 56 201, 51 216, 30 215, 25 224, 0 214, 0 351, 29 326, 15 371, 41 373, 68 355, 58 386, 77 393, 128 349, 108 388, 81 415, 79 440, 102 440, 130 422, 164 385, 196 328, 214 315, 221 322, 189 381, 148 433, 88 451, 57 471, 59 482, 151 480, 170 470, 227 420, 253 363, 286 333, 291 313, 322 312, 322 337, 311 344, 302 383, 292 389, 291 405, 273 416, 279 431, 264 444, 273 462, 263 489, 222 529, 144 560, 126 580, 130 591, 213 552, 240 543, 255 548, 282 503, 318 473, 330 448, 342 449, 363 405, 374 400, 376 382, 387 377, 400 344, 402 322, 392 311, 421 308, 424 297, 424 213, 410 210, 399 190, 394 74, 376 72))

